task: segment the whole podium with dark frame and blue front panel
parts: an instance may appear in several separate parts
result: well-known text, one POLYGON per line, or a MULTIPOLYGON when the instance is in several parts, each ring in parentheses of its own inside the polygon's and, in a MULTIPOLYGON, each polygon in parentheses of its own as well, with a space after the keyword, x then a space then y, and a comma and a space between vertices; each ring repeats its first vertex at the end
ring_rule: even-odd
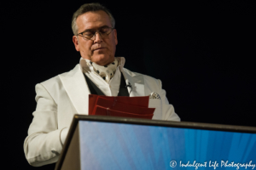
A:
POLYGON ((256 127, 75 115, 55 170, 252 169, 256 127))

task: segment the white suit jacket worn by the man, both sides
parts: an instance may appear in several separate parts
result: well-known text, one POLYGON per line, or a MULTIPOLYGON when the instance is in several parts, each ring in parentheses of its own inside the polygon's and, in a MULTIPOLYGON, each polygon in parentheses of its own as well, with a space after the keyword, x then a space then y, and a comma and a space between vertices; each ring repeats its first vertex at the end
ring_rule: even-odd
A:
MULTIPOLYGON (((149 99, 149 107, 156 108, 153 119, 180 121, 174 108, 166 99, 160 80, 131 72, 120 67, 130 96, 147 96, 152 92, 160 99, 149 99)), ((58 161, 62 150, 61 130, 69 127, 74 114, 88 115, 90 90, 80 65, 72 71, 53 77, 36 85, 36 111, 24 142, 26 160, 34 167, 58 161)))

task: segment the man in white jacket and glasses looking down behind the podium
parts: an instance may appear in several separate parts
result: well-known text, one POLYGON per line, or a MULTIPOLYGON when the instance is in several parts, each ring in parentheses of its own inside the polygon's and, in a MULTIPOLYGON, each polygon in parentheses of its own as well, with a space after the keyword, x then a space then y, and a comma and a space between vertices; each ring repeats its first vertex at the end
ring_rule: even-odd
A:
POLYGON ((160 80, 125 69, 125 58, 115 58, 118 44, 114 20, 98 3, 82 5, 73 14, 73 43, 81 54, 72 71, 36 86, 36 111, 24 142, 27 161, 35 167, 58 160, 76 113, 88 115, 89 94, 156 96, 149 107, 153 119, 180 121, 166 99, 160 80), (125 85, 123 86, 122 84, 125 85))

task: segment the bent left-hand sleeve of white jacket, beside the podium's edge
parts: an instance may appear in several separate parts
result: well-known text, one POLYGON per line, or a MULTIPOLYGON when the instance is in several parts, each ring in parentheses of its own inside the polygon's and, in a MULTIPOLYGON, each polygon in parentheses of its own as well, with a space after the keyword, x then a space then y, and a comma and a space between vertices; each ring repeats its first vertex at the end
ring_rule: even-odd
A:
POLYGON ((36 85, 36 111, 24 141, 26 160, 34 167, 54 163, 62 150, 57 126, 57 105, 42 84, 36 85))

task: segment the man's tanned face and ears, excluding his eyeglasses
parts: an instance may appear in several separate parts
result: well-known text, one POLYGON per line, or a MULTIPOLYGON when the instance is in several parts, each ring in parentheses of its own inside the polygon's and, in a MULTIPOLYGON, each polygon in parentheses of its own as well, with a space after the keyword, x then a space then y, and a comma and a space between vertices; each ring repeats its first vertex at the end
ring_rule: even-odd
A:
MULTIPOLYGON (((102 26, 111 26, 110 18, 104 11, 87 12, 79 15, 77 19, 78 33, 92 29, 97 30, 102 26)), ((82 58, 90 59, 97 65, 108 65, 113 62, 115 47, 118 44, 117 32, 114 29, 107 38, 96 32, 93 40, 81 36, 73 36, 73 43, 82 58)))

